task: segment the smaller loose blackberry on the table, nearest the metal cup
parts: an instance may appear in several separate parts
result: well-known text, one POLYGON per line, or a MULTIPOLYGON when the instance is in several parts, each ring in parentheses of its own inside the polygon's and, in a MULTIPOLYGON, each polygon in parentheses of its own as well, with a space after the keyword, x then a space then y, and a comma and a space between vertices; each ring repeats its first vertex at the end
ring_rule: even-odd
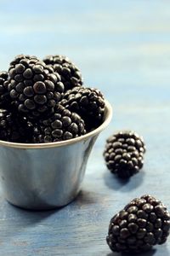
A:
POLYGON ((118 177, 131 177, 142 168, 144 152, 142 137, 133 131, 120 131, 106 141, 105 163, 118 177))

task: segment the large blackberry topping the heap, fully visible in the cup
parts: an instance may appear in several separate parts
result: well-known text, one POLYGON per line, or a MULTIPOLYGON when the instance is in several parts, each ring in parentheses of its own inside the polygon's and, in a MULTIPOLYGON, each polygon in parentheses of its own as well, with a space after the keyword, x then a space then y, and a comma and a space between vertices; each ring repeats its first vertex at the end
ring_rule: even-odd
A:
POLYGON ((8 73, 8 91, 13 105, 33 119, 50 112, 64 91, 59 74, 36 56, 16 56, 8 73))

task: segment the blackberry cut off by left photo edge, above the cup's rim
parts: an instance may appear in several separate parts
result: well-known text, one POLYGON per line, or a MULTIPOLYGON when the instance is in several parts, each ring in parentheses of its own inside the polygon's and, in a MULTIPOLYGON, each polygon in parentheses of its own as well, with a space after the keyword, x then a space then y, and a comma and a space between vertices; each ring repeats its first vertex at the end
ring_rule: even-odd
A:
POLYGON ((8 95, 8 73, 0 72, 0 107, 8 108, 10 97, 8 95))

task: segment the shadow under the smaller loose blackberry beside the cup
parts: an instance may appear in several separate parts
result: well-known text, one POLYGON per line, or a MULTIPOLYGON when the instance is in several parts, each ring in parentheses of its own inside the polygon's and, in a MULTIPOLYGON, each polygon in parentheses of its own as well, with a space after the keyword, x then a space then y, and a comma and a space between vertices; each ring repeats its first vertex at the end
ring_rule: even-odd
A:
POLYGON ((108 188, 114 190, 119 190, 123 188, 122 192, 127 192, 129 190, 138 188, 143 183, 144 175, 144 171, 140 171, 133 177, 130 177, 128 179, 121 179, 116 177, 111 172, 106 171, 104 173, 104 180, 108 188))

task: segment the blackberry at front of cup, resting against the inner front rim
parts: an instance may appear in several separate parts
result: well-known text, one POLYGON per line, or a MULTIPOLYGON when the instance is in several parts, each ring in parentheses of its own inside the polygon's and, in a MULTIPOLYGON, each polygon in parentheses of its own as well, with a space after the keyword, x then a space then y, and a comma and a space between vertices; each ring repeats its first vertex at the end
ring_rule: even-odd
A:
POLYGON ((84 121, 81 117, 57 104, 50 118, 39 120, 38 125, 35 125, 33 143, 59 142, 85 133, 84 121))

